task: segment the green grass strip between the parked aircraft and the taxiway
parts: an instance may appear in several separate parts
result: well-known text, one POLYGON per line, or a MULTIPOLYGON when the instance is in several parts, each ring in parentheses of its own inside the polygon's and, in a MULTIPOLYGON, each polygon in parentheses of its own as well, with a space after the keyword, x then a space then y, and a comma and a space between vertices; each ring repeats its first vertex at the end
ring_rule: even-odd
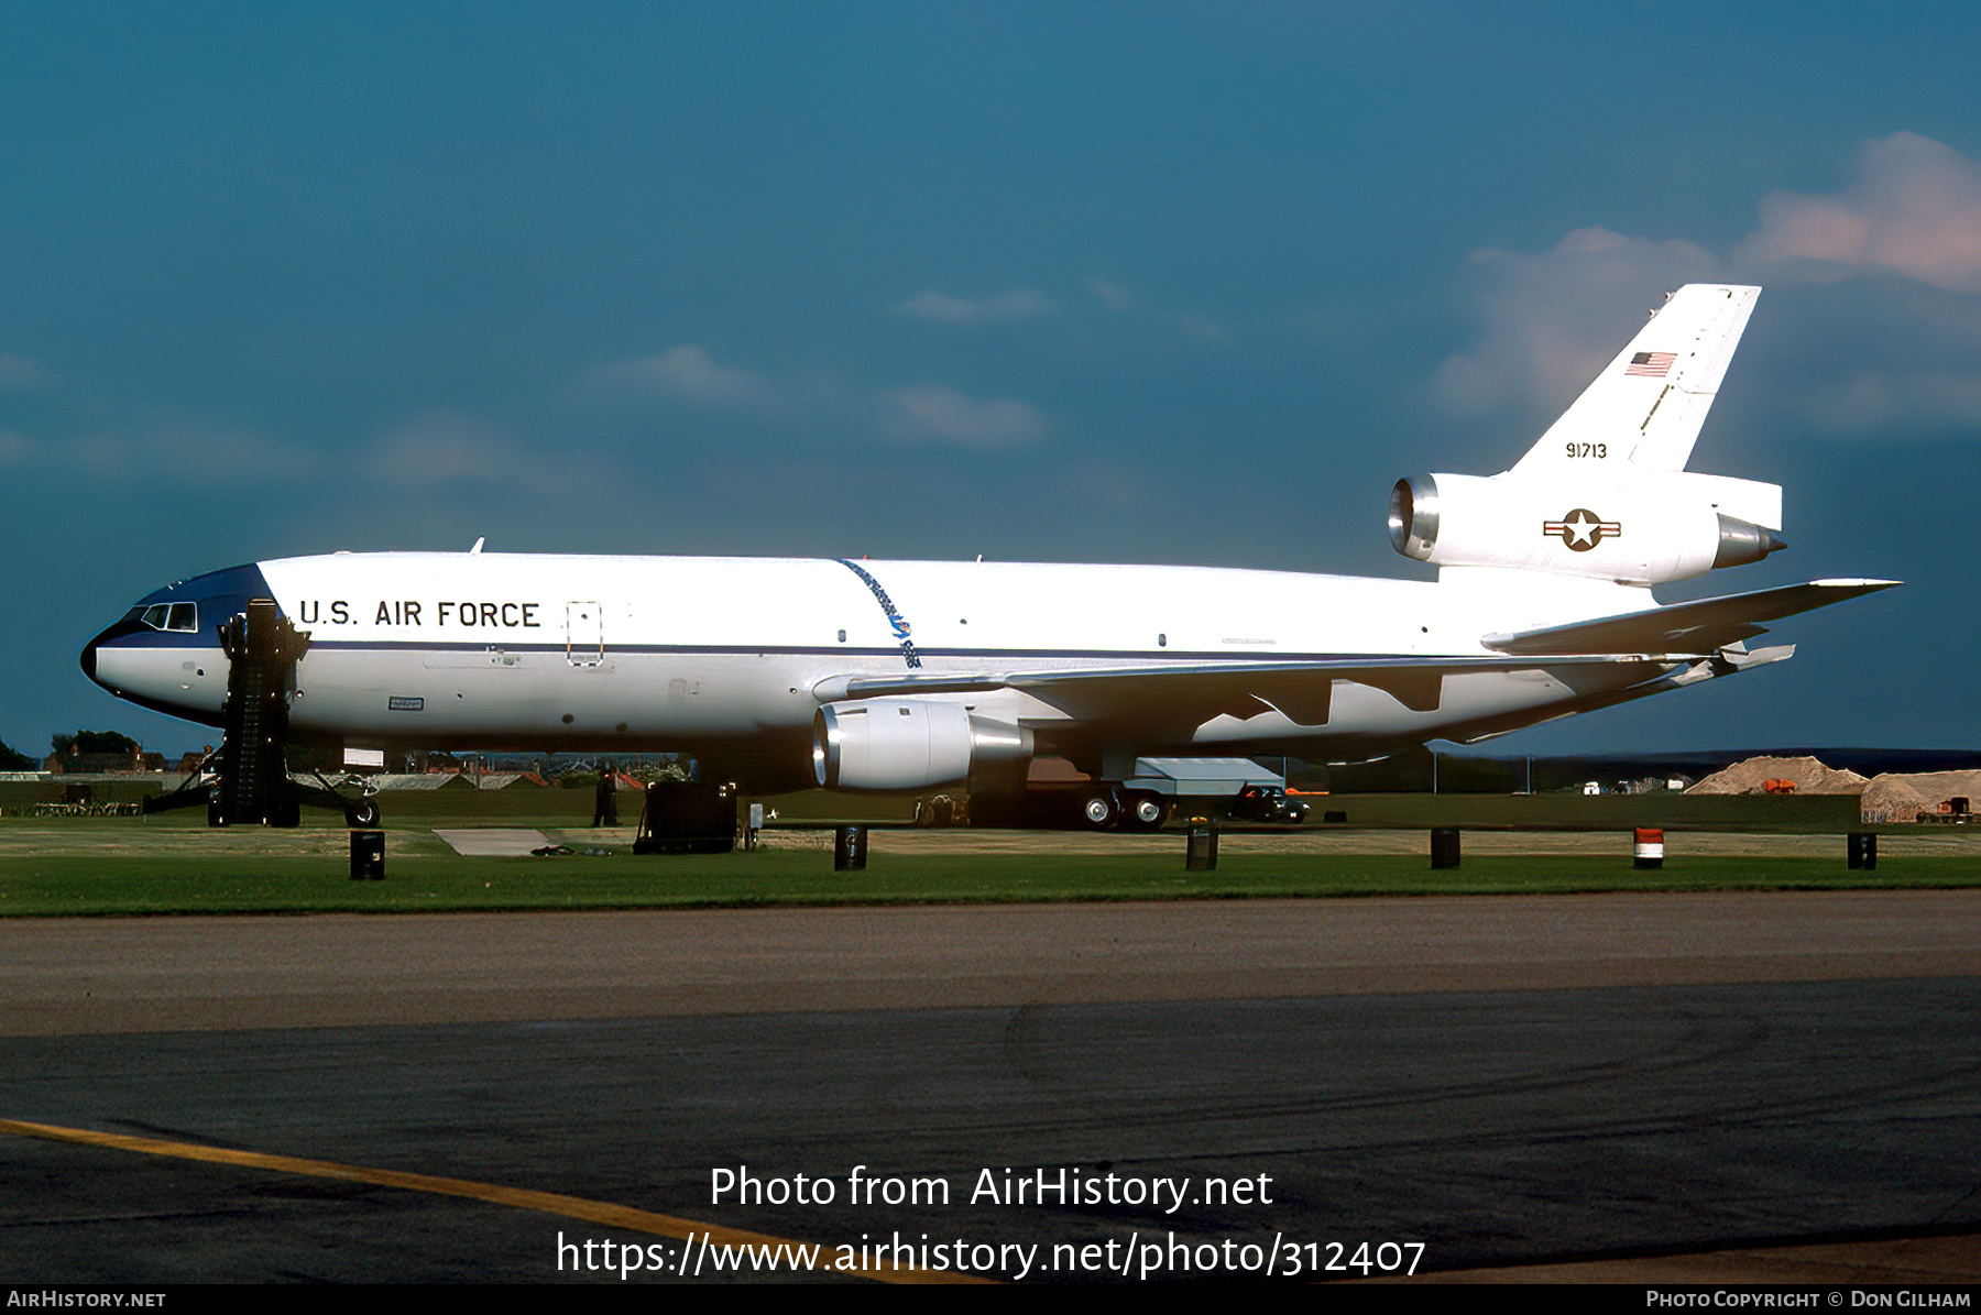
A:
POLYGON ((1183 836, 874 832, 864 871, 832 869, 826 836, 779 834, 751 854, 634 856, 630 830, 573 818, 428 816, 388 830, 386 879, 351 881, 341 826, 208 830, 198 814, 0 818, 0 917, 634 909, 1058 899, 1254 899, 1549 891, 1892 889, 1981 885, 1981 836, 1888 834, 1876 871, 1846 871, 1840 836, 1668 836, 1658 871, 1628 834, 1466 834, 1432 871, 1420 832, 1224 836, 1216 871, 1183 869, 1183 836), (582 852, 468 858, 434 826, 523 826, 582 852))

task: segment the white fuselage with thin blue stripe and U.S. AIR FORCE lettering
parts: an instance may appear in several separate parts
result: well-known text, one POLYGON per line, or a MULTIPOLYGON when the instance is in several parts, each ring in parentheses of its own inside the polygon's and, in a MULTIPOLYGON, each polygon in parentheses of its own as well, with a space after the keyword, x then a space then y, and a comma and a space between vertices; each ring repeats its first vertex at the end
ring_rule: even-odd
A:
MULTIPOLYGON (((757 743, 792 766, 846 677, 1482 656, 1482 634, 1650 604, 1618 586, 1533 590, 1531 576, 1500 590, 1202 566, 366 553, 260 572, 309 636, 289 705, 297 735, 541 751, 757 743)), ((228 665, 212 634, 202 622, 176 646, 99 646, 93 675, 214 723, 228 665)), ((1642 677, 1618 669, 1603 683, 1642 677)), ((1294 745, 1369 757, 1460 727, 1525 725, 1587 693, 1587 679, 1571 689, 1541 661, 1448 677, 1430 711, 1343 681, 1321 725, 1262 705, 1210 717, 1181 743, 1121 733, 1109 753, 1294 745)), ((1056 731, 1095 737, 1016 689, 931 697, 1026 725, 1044 747, 1056 731)))

